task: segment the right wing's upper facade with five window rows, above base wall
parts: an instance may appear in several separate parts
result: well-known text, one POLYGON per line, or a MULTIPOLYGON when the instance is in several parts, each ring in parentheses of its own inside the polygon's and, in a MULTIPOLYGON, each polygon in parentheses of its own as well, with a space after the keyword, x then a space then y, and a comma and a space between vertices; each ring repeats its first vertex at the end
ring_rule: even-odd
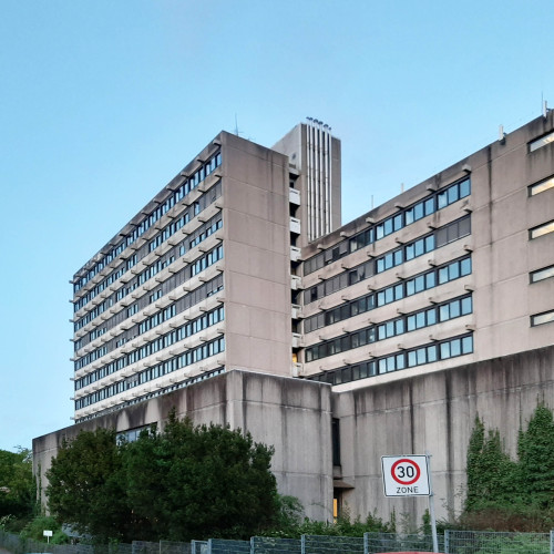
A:
POLYGON ((534 321, 537 314, 554 311, 554 279, 533 280, 533 274, 554 267, 554 233, 533 237, 532 229, 553 220, 554 186, 538 194, 532 187, 554 178, 554 147, 530 146, 553 132, 553 115, 532 121, 302 250, 304 377, 346 390, 369 384, 348 373, 371 360, 369 377, 378 384, 553 343, 552 328, 534 321), (419 217, 418 208, 425 211, 419 217), (451 271, 455 260, 464 260, 466 271, 451 271), (429 275, 432 268, 434 276, 429 275), (432 283, 418 289, 414 280, 423 275, 432 283), (337 315, 337 307, 371 293, 371 307, 337 315), (380 298, 389 293, 390 298, 380 298), (448 315, 447 305, 462 297, 469 309, 448 315), (431 319, 429 312, 423 316, 433 307, 431 319), (427 321, 410 327, 412 316, 427 321), (399 326, 393 332, 383 328, 391 322, 399 326), (371 338, 357 346, 348 336, 360 329, 371 338), (449 348, 442 343, 456 337, 471 345, 442 356, 449 348), (413 351, 433 349, 433 343, 439 348, 432 357, 411 362, 413 351), (400 366, 388 365, 392 357, 400 366))

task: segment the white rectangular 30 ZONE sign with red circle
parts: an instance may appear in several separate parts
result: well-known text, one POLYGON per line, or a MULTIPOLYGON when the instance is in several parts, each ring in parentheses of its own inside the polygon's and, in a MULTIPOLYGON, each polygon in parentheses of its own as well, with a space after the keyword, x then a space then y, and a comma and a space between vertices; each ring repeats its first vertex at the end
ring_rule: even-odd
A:
POLYGON ((381 456, 386 496, 429 496, 425 455, 381 456))

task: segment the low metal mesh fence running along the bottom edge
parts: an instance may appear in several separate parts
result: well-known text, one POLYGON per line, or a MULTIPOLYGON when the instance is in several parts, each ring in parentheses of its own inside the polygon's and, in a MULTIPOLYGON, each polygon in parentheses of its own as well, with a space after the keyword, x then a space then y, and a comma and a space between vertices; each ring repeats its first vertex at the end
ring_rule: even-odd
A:
MULTIPOLYGON (((447 554, 554 554, 554 531, 548 533, 492 533, 445 531, 439 551, 447 554)), ((249 541, 161 541, 132 544, 47 544, 0 531, 0 547, 12 554, 379 554, 432 552, 431 535, 366 533, 357 536, 302 535, 300 538, 254 536, 249 541)))

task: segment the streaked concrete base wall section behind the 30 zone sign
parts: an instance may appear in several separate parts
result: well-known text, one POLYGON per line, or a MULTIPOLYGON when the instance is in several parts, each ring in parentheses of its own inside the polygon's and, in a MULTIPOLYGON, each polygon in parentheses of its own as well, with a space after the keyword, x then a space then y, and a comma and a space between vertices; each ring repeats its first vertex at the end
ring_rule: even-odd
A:
POLYGON ((421 524, 428 499, 384 497, 380 458, 429 451, 437 515, 458 512, 475 417, 488 429, 499 429, 514 455, 517 430, 540 401, 554 409, 554 347, 335 393, 342 462, 338 476, 355 486, 345 491, 343 502, 353 515, 377 510, 388 519, 396 510, 421 524))

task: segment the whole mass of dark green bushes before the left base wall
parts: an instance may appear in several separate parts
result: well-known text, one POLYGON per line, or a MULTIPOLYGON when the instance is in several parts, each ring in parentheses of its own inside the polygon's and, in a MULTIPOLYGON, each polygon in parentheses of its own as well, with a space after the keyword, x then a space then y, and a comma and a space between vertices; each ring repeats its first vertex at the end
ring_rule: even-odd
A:
POLYGON ((133 443, 82 432, 48 472, 49 507, 99 542, 244 538, 273 525, 279 501, 273 449, 228 427, 195 427, 172 411, 133 443))

